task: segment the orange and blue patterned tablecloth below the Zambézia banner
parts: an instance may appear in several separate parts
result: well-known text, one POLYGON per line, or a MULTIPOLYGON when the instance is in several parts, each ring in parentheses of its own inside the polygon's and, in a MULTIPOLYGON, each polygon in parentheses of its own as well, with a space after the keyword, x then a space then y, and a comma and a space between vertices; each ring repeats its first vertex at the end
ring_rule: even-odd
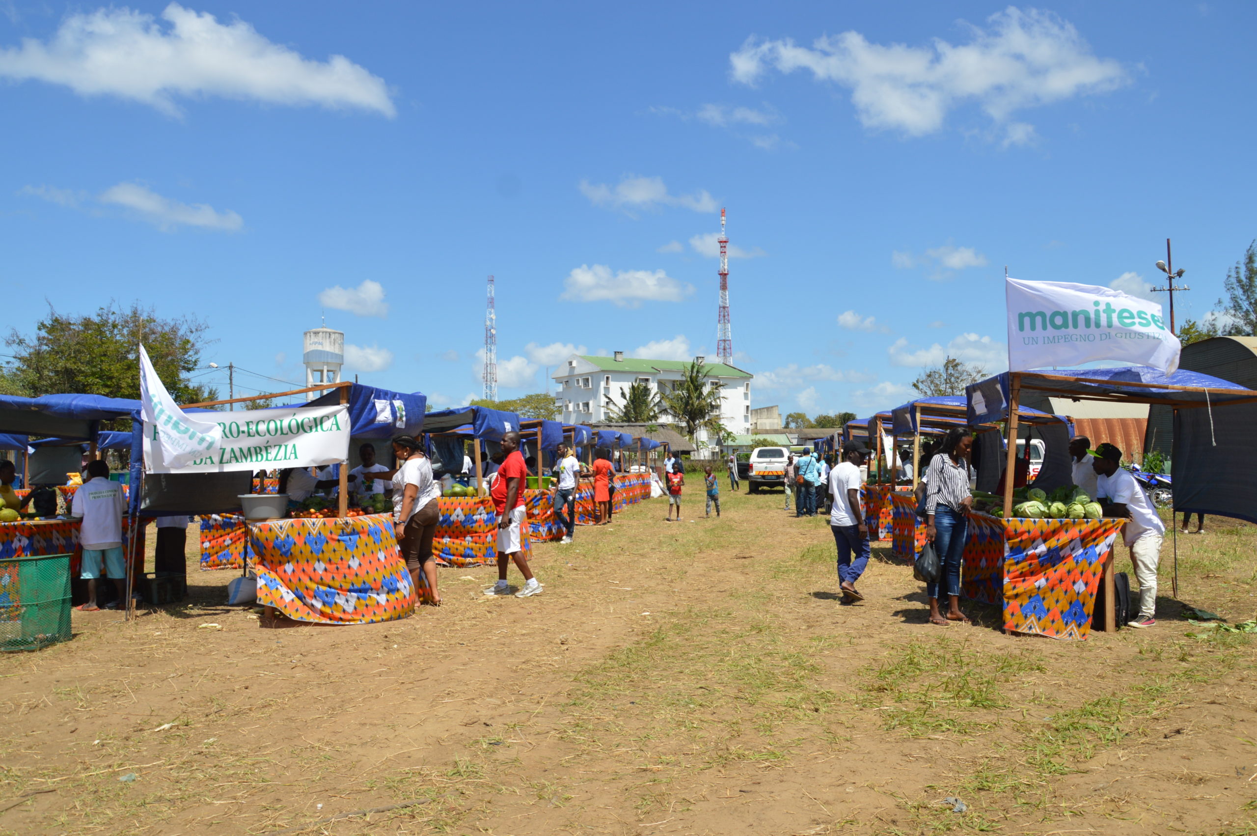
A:
POLYGON ((416 593, 388 514, 251 523, 258 603, 297 621, 405 619, 416 593))

